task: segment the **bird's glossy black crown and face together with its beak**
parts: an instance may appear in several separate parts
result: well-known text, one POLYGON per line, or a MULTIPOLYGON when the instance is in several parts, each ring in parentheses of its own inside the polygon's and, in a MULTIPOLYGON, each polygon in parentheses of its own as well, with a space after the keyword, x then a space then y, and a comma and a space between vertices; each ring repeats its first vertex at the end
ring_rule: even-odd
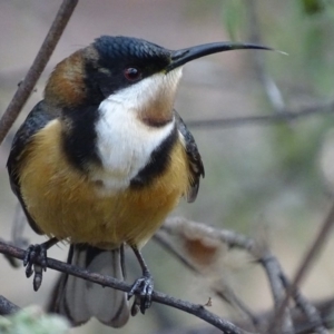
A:
POLYGON ((99 82, 105 97, 155 73, 168 73, 186 62, 216 52, 236 49, 268 49, 250 43, 216 42, 168 50, 144 39, 102 36, 92 43, 98 60, 87 62, 90 79, 99 82))

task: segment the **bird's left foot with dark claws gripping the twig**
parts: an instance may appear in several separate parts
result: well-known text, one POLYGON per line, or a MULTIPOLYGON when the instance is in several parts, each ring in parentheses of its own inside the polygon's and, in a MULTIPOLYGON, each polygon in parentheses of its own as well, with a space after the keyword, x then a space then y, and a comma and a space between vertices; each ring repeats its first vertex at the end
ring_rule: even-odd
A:
POLYGON ((23 266, 26 267, 26 276, 30 277, 33 273, 33 289, 38 291, 42 283, 42 272, 47 271, 47 247, 45 244, 30 245, 24 254, 23 266), (36 261, 40 258, 40 264, 36 261))

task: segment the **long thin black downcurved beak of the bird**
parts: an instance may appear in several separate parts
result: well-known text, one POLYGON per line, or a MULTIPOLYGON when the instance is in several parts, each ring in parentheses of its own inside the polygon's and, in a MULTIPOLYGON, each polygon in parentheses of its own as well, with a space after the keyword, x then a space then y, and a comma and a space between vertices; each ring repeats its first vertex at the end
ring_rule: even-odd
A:
POLYGON ((237 43, 237 42, 215 42, 195 46, 181 50, 171 51, 170 55, 170 63, 167 66, 166 71, 169 72, 173 69, 185 65, 188 61, 194 59, 208 56, 212 53, 224 52, 229 50, 240 50, 240 49, 257 49, 257 50, 271 50, 272 48, 267 48, 264 46, 252 45, 252 43, 237 43))

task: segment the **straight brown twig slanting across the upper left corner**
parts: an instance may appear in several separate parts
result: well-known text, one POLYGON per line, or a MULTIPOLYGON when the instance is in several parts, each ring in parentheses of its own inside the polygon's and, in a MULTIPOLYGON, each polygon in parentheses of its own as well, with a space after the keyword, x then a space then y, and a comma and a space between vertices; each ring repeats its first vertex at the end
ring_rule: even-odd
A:
POLYGON ((77 3, 78 0, 62 1, 50 30, 32 62, 32 66, 0 119, 0 144, 10 127, 13 125, 36 86, 37 80, 46 68, 46 65, 49 61, 77 3))

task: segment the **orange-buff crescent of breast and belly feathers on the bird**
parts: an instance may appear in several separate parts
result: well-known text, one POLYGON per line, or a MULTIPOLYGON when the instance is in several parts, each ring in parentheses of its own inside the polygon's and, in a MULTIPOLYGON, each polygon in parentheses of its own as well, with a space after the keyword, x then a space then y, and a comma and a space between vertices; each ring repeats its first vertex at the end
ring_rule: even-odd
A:
POLYGON ((183 145, 175 145, 166 173, 149 186, 108 194, 67 163, 60 131, 57 120, 39 131, 19 170, 22 197, 37 225, 73 243, 144 245, 189 186, 183 145))

